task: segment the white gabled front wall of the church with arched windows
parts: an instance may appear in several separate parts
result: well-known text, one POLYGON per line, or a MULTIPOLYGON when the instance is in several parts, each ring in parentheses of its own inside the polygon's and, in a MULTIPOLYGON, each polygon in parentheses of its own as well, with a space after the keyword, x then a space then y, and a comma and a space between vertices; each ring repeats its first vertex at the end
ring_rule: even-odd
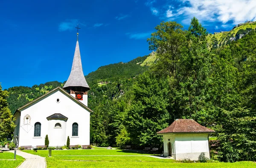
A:
MULTIPOLYGON (((70 145, 90 144, 90 112, 87 112, 86 109, 67 97, 67 95, 56 90, 56 92, 47 95, 47 97, 38 101, 36 104, 21 110, 21 120, 28 114, 31 117, 30 126, 32 128, 29 131, 28 129, 26 130, 26 128, 20 128, 19 146, 44 145, 44 137, 46 134, 48 134, 49 143, 54 144, 54 138, 63 135, 55 135, 52 134, 52 132, 49 132, 51 128, 48 128, 47 117, 55 113, 61 113, 68 118, 64 144, 67 142, 67 136, 70 136, 70 145), (56 101, 57 98, 59 99, 59 103, 56 101), (34 137, 34 126, 36 122, 41 123, 41 137, 34 137), (78 137, 76 137, 76 140, 74 140, 75 138, 72 138, 72 124, 75 122, 79 124, 79 134, 78 137)), ((20 125, 22 126, 23 124, 21 123, 20 125)), ((54 130, 54 128, 52 129, 54 130)))

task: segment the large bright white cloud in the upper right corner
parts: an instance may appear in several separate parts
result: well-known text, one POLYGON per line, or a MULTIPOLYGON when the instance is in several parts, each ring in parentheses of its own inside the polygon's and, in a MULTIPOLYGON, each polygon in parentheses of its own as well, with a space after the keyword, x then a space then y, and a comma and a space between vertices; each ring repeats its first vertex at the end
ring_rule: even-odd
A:
MULTIPOLYGON (((176 0, 177 8, 166 10, 166 17, 197 17, 200 21, 234 24, 256 20, 256 0, 176 0)), ((169 4, 172 4, 170 0, 169 4)))

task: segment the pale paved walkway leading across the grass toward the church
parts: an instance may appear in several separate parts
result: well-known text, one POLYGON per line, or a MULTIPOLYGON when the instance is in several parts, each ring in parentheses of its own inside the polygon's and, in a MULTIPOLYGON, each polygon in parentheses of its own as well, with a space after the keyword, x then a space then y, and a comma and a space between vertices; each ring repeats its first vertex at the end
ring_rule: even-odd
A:
MULTIPOLYGON (((14 153, 14 151, 10 152, 14 153)), ((46 168, 45 157, 28 154, 18 150, 16 151, 16 154, 26 159, 18 168, 46 168)))

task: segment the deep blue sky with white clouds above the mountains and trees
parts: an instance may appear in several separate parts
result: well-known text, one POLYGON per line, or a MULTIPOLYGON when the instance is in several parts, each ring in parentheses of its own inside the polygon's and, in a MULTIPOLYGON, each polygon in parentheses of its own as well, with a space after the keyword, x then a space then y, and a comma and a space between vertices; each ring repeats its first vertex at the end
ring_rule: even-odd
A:
POLYGON ((210 33, 256 20, 255 0, 13 0, 0 2, 3 89, 67 80, 76 45, 84 75, 144 56, 161 21, 188 28, 197 17, 210 33))

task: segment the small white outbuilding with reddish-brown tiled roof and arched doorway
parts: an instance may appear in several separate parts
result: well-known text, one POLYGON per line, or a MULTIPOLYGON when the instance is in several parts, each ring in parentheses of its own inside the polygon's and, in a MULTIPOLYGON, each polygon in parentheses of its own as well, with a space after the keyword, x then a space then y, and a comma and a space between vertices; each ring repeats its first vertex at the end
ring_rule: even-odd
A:
POLYGON ((176 119, 170 126, 157 132, 157 135, 163 136, 164 157, 198 160, 202 152, 210 158, 208 137, 214 132, 192 119, 176 119))

